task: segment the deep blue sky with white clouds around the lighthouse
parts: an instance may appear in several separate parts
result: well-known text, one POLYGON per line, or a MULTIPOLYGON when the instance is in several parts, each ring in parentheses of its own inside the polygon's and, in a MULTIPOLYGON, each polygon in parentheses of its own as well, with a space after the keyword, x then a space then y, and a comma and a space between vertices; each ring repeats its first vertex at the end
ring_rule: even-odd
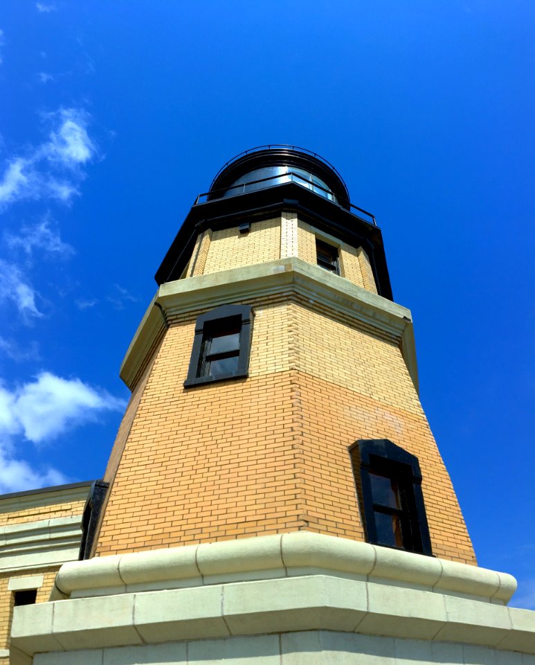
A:
POLYGON ((480 565, 535 608, 535 5, 3 0, 0 491, 101 477, 152 276, 222 163, 377 215, 480 565))

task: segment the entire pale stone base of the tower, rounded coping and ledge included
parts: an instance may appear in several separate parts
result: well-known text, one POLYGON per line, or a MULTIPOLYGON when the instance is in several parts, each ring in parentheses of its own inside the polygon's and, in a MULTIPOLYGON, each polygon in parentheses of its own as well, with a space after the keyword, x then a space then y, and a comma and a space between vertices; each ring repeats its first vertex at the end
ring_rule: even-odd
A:
POLYGON ((514 578, 317 533, 66 564, 12 665, 535 665, 514 578))

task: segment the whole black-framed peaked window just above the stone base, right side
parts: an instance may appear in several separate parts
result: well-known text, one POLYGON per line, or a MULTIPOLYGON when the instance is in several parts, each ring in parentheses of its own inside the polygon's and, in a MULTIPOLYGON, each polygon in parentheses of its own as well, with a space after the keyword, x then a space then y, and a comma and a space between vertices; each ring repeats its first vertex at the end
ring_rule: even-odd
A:
POLYGON ((368 542, 431 554, 417 457, 387 439, 350 450, 368 542))

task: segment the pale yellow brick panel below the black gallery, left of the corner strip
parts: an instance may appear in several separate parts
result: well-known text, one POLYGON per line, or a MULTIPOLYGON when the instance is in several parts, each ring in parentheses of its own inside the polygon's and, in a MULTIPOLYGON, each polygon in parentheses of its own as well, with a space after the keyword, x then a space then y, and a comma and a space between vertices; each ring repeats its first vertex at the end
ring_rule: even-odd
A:
POLYGON ((203 274, 276 258, 280 258, 280 218, 253 222, 248 233, 239 233, 238 227, 212 231, 203 274))

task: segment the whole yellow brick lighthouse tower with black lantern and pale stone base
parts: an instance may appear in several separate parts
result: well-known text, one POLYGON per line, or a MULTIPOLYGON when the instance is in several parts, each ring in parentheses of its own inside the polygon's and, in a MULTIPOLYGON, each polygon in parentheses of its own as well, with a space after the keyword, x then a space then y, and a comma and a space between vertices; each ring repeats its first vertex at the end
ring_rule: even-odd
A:
POLYGON ((381 231, 336 169, 285 145, 226 163, 156 281, 83 560, 17 608, 17 662, 535 663, 514 579, 477 566, 381 231))

